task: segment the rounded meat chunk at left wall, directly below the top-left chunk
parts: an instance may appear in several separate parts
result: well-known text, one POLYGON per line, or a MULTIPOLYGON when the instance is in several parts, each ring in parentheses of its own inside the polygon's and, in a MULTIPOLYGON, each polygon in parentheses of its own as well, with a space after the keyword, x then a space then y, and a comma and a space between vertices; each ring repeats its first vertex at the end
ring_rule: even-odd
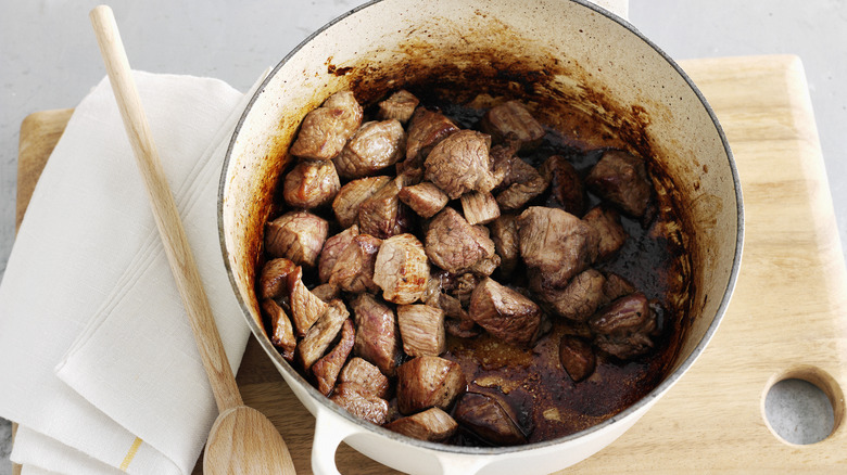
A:
POLYGON ((302 159, 286 175, 282 197, 293 208, 317 208, 331 203, 339 189, 332 162, 302 159))

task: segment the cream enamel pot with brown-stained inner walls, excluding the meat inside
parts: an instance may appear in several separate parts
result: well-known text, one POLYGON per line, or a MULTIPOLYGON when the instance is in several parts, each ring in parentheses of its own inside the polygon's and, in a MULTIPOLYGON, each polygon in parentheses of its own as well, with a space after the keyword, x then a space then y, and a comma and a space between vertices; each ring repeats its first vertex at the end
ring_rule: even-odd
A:
POLYGON ((625 21, 580 0, 382 0, 338 18, 291 52, 253 98, 230 144, 219 198, 222 246, 235 292, 253 333, 317 420, 312 463, 319 474, 337 473, 341 440, 409 473, 548 473, 590 457, 632 426, 703 351, 734 287, 743 238, 737 174, 700 93, 625 21), (636 153, 648 150, 671 177, 663 187, 686 210, 690 231, 687 333, 672 372, 612 419, 521 447, 423 442, 351 416, 301 377, 265 337, 254 266, 298 125, 338 90, 352 88, 359 100, 372 101, 421 81, 446 81, 450 88, 468 82, 490 86, 496 94, 538 99, 535 111, 545 121, 571 127, 555 105, 567 102, 631 141, 636 153))

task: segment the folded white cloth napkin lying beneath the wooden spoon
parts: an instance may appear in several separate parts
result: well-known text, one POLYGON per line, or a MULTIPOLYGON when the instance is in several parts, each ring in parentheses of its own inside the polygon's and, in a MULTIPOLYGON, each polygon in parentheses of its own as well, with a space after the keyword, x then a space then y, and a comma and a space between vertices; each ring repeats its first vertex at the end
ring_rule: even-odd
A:
MULTIPOLYGON (((252 91, 135 78, 235 371, 249 330, 225 272, 216 201, 252 91)), ((0 415, 21 424, 12 460, 35 473, 188 474, 216 413, 103 79, 53 151, 0 283, 0 415)))

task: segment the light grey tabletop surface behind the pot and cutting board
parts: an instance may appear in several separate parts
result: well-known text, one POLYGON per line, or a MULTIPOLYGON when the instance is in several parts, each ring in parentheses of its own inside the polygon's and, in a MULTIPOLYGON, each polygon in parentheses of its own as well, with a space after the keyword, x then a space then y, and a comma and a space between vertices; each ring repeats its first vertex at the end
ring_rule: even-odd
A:
MULTIPOLYGON (((75 106, 103 77, 88 21, 88 11, 98 3, 0 0, 0 275, 14 241, 21 121, 36 111, 75 106)), ((132 67, 214 76, 244 90, 309 33, 359 3, 115 0, 110 4, 132 67)), ((843 246, 847 244, 847 2, 631 0, 630 17, 678 60, 776 53, 802 59, 839 235, 843 246)), ((795 394, 779 391, 775 400, 795 394)), ((807 425, 821 426, 820 411, 801 411, 799 416, 797 411, 774 412, 781 423, 810 421, 807 425)), ((8 424, 0 421, 0 475, 10 473, 8 434, 8 424)))

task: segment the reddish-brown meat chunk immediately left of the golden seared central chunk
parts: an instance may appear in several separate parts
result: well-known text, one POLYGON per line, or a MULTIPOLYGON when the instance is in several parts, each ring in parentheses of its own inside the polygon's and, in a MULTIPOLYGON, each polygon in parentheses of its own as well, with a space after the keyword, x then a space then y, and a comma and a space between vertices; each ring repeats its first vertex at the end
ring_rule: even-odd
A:
POLYGON ((359 234, 338 256, 329 275, 329 283, 345 292, 377 292, 374 282, 374 265, 382 240, 369 234, 359 234))

